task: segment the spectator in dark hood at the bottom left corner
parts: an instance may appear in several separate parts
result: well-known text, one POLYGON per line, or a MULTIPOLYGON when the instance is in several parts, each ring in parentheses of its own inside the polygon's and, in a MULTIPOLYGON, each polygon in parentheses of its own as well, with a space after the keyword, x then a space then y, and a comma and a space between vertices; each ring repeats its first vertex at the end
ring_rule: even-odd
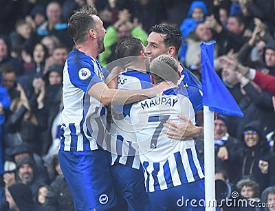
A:
POLYGON ((14 184, 5 190, 6 200, 11 210, 43 211, 43 208, 32 201, 32 192, 25 184, 14 184))

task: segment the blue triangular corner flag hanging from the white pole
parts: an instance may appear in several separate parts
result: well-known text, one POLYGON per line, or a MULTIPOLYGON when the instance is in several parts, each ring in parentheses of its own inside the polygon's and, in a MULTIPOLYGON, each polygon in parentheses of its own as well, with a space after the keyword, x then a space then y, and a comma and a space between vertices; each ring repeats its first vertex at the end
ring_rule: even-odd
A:
POLYGON ((214 43, 201 43, 203 106, 208 106, 210 111, 243 117, 238 104, 214 71, 214 43))

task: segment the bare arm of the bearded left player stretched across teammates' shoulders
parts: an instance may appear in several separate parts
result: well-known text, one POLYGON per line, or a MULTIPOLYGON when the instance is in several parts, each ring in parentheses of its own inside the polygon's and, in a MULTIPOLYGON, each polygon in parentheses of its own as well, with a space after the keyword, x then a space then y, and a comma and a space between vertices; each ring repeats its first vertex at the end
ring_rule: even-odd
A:
POLYGON ((172 82, 162 82, 155 87, 142 90, 110 89, 104 82, 98 82, 88 90, 88 94, 104 105, 129 104, 156 96, 160 91, 175 87, 172 82))

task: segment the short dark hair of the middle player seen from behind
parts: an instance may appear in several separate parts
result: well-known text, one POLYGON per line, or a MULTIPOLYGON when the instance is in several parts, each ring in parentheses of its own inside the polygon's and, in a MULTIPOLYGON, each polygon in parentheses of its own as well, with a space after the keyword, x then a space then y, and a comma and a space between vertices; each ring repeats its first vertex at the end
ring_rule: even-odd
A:
POLYGON ((140 56, 143 50, 142 41, 139 38, 124 38, 115 48, 116 58, 125 58, 127 56, 140 56))

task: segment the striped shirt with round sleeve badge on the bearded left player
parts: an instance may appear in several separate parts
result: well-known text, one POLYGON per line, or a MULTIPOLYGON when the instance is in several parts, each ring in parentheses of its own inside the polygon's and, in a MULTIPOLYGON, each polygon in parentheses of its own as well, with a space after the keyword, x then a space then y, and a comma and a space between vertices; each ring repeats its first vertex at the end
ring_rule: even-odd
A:
POLYGON ((63 69, 61 150, 92 151, 102 145, 107 109, 87 91, 108 74, 98 60, 78 49, 69 53, 63 69))

